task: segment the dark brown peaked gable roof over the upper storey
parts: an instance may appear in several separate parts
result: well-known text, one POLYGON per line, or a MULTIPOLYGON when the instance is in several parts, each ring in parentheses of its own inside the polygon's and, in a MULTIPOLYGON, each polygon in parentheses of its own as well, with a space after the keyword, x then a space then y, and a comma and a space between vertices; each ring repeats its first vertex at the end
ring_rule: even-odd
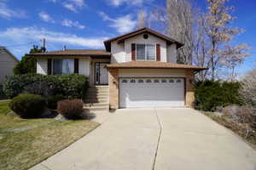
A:
POLYGON ((166 40, 166 42, 168 42, 168 43, 176 43, 177 48, 180 48, 184 45, 182 42, 178 42, 177 40, 174 40, 171 37, 167 37, 167 36, 161 34, 160 32, 157 32, 157 31, 151 30, 150 28, 145 27, 145 28, 139 29, 137 31, 131 31, 131 32, 121 35, 119 37, 113 37, 109 40, 104 41, 105 48, 107 49, 107 51, 111 51, 111 42, 113 42, 113 41, 117 41, 118 43, 124 42, 125 39, 135 37, 135 36, 137 36, 139 34, 143 34, 143 33, 148 33, 148 34, 154 35, 155 37, 160 37, 161 39, 166 40))

